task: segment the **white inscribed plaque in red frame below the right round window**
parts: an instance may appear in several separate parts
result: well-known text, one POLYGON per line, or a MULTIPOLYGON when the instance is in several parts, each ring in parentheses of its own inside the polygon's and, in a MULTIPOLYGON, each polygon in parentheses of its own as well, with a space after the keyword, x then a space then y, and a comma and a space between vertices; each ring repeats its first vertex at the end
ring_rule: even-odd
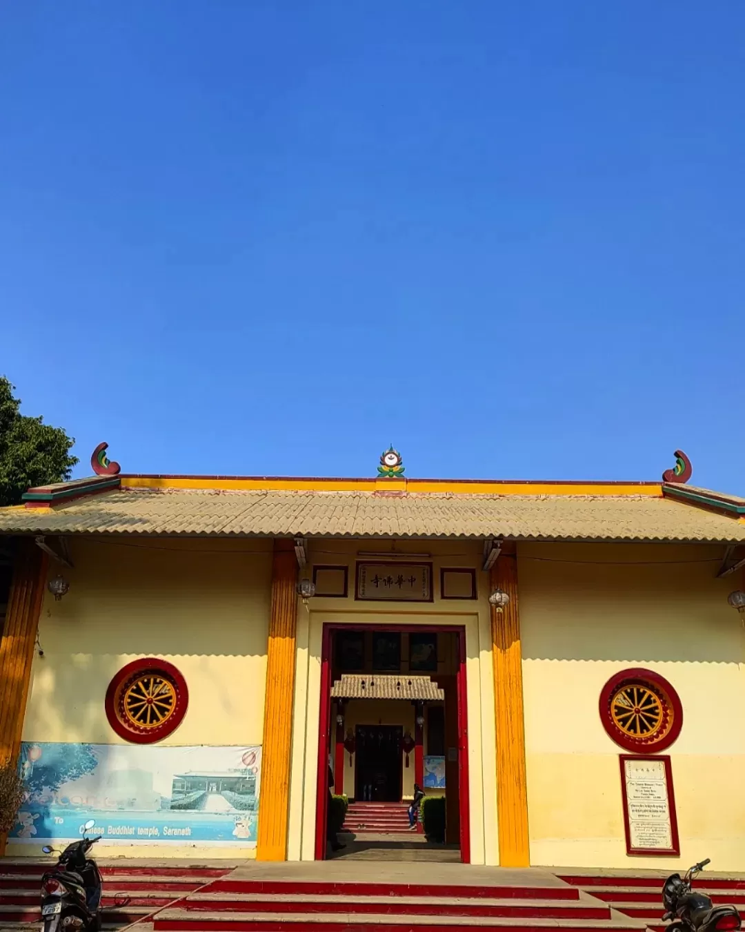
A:
POLYGON ((619 755, 628 855, 679 855, 669 757, 619 755))

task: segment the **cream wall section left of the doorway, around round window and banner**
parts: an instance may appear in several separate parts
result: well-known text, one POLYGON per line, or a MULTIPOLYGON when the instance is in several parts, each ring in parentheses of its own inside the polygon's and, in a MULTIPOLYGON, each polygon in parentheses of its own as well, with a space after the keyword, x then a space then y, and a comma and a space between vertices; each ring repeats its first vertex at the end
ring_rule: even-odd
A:
MULTIPOLYGON (((23 740, 126 743, 106 719, 106 689, 123 665, 154 656, 176 665, 189 689, 183 723, 162 744, 260 745, 271 547, 271 541, 73 538, 74 569, 64 570, 70 592, 59 602, 47 594, 41 612, 44 656, 34 658, 23 740)), ((102 857, 126 850, 100 846, 102 857)), ((136 848, 137 857, 166 853, 191 857, 196 850, 136 848)), ((252 856, 224 850, 224 857, 252 856)))

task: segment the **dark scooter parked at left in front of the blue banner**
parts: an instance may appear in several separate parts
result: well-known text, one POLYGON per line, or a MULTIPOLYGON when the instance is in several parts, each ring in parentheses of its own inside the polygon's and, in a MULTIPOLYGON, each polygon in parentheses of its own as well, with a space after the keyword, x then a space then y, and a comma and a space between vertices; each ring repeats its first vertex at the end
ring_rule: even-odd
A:
POLYGON ((88 857, 88 851, 101 840, 101 835, 88 838, 88 831, 95 824, 94 819, 86 822, 80 841, 68 844, 61 853, 49 845, 42 848, 45 855, 60 855, 56 868, 41 879, 44 932, 58 932, 58 927, 65 932, 101 930, 101 871, 93 858, 88 857))

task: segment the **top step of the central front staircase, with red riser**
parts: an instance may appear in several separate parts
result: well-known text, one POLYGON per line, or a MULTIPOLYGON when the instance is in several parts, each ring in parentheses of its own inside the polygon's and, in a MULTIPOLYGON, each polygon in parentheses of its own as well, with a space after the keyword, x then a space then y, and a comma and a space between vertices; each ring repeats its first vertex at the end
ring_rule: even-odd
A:
POLYGON ((240 880, 225 877, 210 884, 210 894, 246 896, 317 896, 317 897, 421 897, 427 899, 561 899, 578 900, 573 886, 523 886, 507 884, 385 884, 359 881, 240 880))

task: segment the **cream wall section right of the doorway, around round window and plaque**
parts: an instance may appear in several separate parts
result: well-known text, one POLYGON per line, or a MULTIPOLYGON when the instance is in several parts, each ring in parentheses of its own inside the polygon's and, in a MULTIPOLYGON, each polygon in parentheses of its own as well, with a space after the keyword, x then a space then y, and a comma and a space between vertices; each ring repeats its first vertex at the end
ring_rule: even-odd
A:
POLYGON ((531 863, 745 870, 745 669, 722 547, 518 549, 531 863), (681 857, 626 854, 618 755, 598 700, 616 671, 656 670, 680 695, 671 755, 681 857))

